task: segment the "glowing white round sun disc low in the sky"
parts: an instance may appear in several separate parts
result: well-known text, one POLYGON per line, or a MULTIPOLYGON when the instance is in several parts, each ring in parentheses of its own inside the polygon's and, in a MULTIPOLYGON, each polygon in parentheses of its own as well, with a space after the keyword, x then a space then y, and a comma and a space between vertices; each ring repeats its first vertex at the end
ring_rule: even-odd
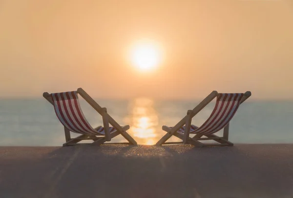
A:
POLYGON ((162 60, 162 53, 154 42, 140 41, 132 47, 130 60, 137 69, 149 71, 158 67, 162 60))

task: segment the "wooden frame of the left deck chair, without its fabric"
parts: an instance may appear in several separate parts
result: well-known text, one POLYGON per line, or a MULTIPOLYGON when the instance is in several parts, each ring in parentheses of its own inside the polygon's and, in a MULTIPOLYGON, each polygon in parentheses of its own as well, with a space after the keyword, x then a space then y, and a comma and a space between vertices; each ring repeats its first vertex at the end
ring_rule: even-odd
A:
MULTIPOLYGON (((129 129, 129 125, 126 126, 120 126, 108 113, 106 108, 102 108, 94 99, 92 99, 82 88, 77 89, 77 93, 80 94, 84 100, 92 106, 99 114, 101 114, 103 118, 103 125, 105 128, 105 136, 101 135, 80 135, 76 138, 70 137, 70 130, 67 129, 64 126, 64 133, 65 133, 65 143, 63 146, 69 146, 69 145, 76 145, 82 140, 93 140, 94 142, 91 143, 92 145, 100 145, 104 144, 105 142, 111 141, 112 138, 116 137, 117 135, 121 134, 128 143, 119 143, 119 144, 134 144, 136 145, 136 141, 126 132, 126 130, 129 129), (116 131, 113 133, 110 133, 109 124, 112 125, 116 131)), ((48 92, 43 93, 43 97, 52 105, 53 101, 51 99, 51 94, 48 92)), ((95 129, 97 129, 96 127, 95 129)), ((84 143, 85 144, 85 143, 84 143)), ((113 143, 111 143, 113 144, 113 143)))

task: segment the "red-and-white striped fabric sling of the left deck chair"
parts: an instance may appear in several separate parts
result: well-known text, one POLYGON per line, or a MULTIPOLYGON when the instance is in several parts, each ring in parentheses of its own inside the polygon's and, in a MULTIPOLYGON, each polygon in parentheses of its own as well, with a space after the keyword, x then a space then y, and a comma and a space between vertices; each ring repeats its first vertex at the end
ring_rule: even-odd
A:
MULTIPOLYGON (((99 126, 95 130, 85 119, 77 91, 52 93, 51 98, 58 119, 68 130, 85 135, 105 135, 104 127, 99 126)), ((110 127, 110 133, 115 131, 110 127)))

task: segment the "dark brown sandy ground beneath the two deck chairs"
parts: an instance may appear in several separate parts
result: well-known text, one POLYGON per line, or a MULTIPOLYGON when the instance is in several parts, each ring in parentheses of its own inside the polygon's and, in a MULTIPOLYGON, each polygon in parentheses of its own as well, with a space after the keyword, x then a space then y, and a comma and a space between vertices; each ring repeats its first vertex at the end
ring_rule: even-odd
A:
POLYGON ((0 147, 0 198, 293 198, 293 144, 0 147))

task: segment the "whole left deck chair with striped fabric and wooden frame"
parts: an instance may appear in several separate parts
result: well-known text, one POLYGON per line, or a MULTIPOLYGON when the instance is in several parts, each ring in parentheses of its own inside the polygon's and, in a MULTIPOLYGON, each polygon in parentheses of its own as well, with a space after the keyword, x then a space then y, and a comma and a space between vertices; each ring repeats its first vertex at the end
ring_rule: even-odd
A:
POLYGON ((93 140, 94 142, 91 144, 100 145, 111 141, 112 138, 119 134, 128 141, 127 144, 137 144, 126 132, 129 129, 129 125, 120 126, 107 113, 107 109, 99 106, 82 88, 79 88, 77 91, 62 93, 49 94, 48 92, 44 92, 43 97, 54 106, 55 113, 64 126, 66 142, 63 146, 75 145, 82 140, 93 140), (88 123, 81 109, 78 94, 102 115, 104 126, 93 128, 88 123), (70 131, 81 135, 76 138, 71 138, 70 131))

